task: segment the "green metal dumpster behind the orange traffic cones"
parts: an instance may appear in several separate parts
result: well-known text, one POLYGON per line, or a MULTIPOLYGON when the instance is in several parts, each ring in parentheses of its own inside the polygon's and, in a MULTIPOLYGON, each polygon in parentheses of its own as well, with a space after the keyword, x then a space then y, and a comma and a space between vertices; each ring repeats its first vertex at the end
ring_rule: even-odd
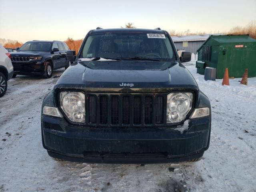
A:
POLYGON ((256 40, 249 35, 211 35, 198 51, 197 73, 204 75, 206 67, 216 68, 216 78, 240 78, 248 68, 248 77, 256 77, 256 40))

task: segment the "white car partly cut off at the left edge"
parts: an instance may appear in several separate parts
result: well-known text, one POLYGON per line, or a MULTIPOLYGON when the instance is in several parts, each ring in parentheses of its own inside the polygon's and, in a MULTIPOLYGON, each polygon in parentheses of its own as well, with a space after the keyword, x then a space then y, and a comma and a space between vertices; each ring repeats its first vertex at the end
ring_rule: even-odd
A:
POLYGON ((0 44, 0 97, 7 90, 7 81, 12 78, 13 66, 10 53, 0 44))

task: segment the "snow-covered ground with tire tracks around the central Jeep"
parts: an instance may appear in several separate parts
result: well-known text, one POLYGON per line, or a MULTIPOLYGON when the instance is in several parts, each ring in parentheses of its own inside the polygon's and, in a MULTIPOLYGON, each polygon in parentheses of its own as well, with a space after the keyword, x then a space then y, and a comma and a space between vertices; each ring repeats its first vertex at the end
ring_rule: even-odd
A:
POLYGON ((194 64, 186 67, 212 104, 210 148, 195 163, 56 162, 42 147, 40 110, 58 78, 10 80, 0 98, 0 192, 256 192, 256 78, 222 86, 204 81, 194 64))

